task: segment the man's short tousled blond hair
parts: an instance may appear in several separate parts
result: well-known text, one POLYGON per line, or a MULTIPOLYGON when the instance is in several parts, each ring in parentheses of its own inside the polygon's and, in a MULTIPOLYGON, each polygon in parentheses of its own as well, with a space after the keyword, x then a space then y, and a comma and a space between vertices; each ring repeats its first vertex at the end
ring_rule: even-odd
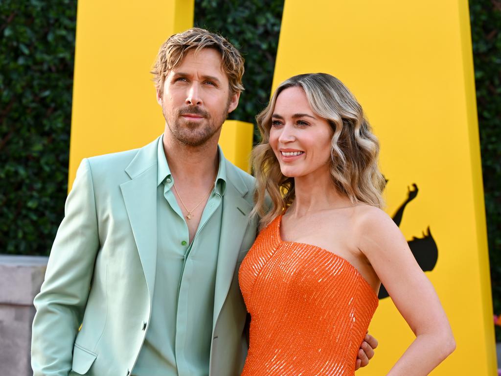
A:
POLYGON ((228 76, 231 94, 244 90, 242 84, 244 60, 238 50, 219 34, 205 29, 191 28, 172 35, 158 50, 151 74, 155 88, 163 95, 163 83, 169 72, 183 61, 187 51, 197 54, 204 48, 212 48, 221 54, 221 68, 228 76))

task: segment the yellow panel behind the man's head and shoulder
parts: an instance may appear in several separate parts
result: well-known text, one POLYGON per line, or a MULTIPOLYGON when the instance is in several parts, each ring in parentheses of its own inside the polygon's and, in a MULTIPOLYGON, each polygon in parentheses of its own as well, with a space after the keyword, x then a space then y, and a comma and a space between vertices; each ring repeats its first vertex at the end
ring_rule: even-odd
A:
MULTIPOLYGON (((160 45, 192 26, 193 3, 78 3, 70 188, 82 158, 140 147, 162 133, 165 120, 149 71, 160 45)), ((221 135, 223 152, 248 170, 252 124, 227 123, 221 135)))

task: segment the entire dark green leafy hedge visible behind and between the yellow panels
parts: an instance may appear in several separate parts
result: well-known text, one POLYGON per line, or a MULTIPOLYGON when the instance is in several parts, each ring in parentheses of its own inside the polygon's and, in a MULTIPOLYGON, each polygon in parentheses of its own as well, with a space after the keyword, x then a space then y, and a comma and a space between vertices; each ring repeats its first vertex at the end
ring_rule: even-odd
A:
MULTIPOLYGON (((272 84, 283 0, 196 0, 195 25, 246 59, 253 122, 272 84)), ((501 6, 470 2, 494 312, 501 313, 501 6)), ((0 252, 47 255, 64 215, 76 1, 0 1, 0 252)), ((501 334, 498 339, 501 339, 501 334)))

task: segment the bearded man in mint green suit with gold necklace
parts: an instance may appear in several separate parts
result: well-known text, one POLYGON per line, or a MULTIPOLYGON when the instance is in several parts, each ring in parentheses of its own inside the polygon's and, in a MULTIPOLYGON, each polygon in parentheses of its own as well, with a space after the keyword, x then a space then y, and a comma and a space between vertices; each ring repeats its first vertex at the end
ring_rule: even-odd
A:
POLYGON ((257 231, 254 180, 217 145, 243 59, 194 28, 161 46, 152 73, 164 134, 78 169, 35 298, 35 376, 234 376, 243 366, 237 277, 257 231))

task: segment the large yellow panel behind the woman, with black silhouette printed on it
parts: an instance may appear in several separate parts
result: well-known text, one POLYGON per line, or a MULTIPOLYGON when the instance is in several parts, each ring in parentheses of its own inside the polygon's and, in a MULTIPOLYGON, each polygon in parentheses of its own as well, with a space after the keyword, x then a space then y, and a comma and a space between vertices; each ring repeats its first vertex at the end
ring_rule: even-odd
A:
MULTIPOLYGON (((341 79, 365 108, 381 141, 393 215, 418 186, 401 230, 428 226, 438 261, 427 273, 457 342, 434 375, 494 375, 495 354, 465 0, 286 0, 273 87, 300 73, 341 79)), ((385 374, 413 339, 389 298, 370 331, 380 341, 359 376, 385 374)))

